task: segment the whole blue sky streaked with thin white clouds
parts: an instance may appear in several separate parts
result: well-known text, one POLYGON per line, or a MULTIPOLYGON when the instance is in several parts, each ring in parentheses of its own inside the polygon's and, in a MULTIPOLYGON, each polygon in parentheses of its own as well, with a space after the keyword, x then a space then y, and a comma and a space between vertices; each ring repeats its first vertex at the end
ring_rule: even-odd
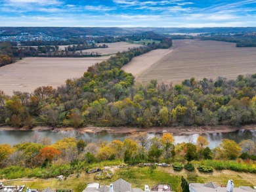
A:
POLYGON ((0 26, 256 27, 256 0, 0 0, 0 26))

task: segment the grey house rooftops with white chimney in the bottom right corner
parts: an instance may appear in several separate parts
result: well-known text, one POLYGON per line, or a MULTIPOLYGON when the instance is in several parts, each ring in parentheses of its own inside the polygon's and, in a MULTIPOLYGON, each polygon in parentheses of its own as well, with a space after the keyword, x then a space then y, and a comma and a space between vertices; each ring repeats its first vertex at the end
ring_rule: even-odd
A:
POLYGON ((221 187, 213 182, 209 182, 206 184, 190 183, 189 190, 190 192, 256 192, 255 189, 252 189, 248 186, 234 187, 234 183, 232 180, 228 180, 226 187, 221 187))

